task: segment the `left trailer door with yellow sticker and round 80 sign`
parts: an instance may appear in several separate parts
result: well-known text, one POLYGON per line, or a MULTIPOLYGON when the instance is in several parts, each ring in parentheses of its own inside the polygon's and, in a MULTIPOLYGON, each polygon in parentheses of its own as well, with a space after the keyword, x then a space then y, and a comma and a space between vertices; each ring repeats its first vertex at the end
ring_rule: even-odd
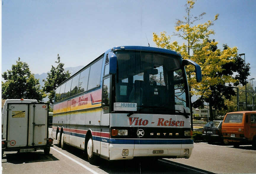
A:
POLYGON ((8 105, 7 147, 27 146, 28 105, 8 105))

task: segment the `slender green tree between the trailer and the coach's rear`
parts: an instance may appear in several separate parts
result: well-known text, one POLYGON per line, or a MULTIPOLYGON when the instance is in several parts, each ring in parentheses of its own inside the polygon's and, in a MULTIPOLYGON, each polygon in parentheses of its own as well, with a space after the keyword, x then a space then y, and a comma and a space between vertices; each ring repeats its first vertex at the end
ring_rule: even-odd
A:
POLYGON ((52 69, 49 73, 47 73, 46 80, 44 79, 44 87, 43 91, 48 95, 49 103, 53 104, 54 96, 55 96, 55 89, 57 85, 62 83, 64 80, 70 77, 70 73, 64 70, 64 63, 60 62, 60 56, 57 55, 57 67, 52 65, 52 69))

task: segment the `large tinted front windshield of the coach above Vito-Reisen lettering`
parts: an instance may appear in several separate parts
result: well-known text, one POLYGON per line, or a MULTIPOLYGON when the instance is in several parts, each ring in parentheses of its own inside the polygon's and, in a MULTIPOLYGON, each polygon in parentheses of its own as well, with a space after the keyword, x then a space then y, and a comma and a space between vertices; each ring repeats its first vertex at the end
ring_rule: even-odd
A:
POLYGON ((115 51, 118 71, 113 103, 137 105, 135 113, 189 113, 181 57, 146 51, 115 51))

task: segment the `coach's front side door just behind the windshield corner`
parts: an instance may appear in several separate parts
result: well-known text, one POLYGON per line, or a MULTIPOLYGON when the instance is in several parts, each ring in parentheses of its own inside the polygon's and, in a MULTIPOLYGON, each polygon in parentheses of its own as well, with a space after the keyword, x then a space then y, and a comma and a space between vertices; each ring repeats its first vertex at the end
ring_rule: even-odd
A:
POLYGON ((100 154, 109 157, 109 107, 110 107, 110 76, 103 79, 102 109, 100 129, 100 154))

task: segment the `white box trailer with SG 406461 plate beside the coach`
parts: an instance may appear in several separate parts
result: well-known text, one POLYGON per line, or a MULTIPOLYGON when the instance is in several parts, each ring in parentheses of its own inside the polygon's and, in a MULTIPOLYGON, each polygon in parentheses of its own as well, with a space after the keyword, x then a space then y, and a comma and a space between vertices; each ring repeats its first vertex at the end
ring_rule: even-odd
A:
POLYGON ((4 151, 39 149, 49 154, 53 139, 48 138, 48 110, 48 104, 36 100, 6 100, 2 112, 2 155, 4 151))

